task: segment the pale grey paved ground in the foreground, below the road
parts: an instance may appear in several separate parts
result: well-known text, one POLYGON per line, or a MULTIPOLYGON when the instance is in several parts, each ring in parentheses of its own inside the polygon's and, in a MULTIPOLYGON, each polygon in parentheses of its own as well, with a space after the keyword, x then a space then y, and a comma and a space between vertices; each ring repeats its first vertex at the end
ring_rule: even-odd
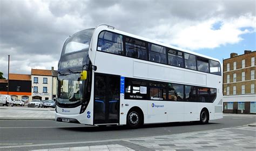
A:
POLYGON ((0 150, 255 150, 256 127, 240 126, 144 138, 116 139, 91 142, 59 143, 49 145, 23 145, 0 150), (69 146, 76 147, 69 147, 69 146))

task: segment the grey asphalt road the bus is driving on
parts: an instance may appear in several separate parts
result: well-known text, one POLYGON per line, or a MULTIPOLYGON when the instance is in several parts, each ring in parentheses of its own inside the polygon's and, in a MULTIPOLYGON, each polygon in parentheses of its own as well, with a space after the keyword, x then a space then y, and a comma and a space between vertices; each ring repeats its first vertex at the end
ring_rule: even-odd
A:
POLYGON ((236 127, 253 122, 255 116, 224 116, 224 119, 211 121, 208 125, 199 125, 197 122, 176 122, 126 129, 125 126, 92 127, 51 120, 0 120, 0 147, 170 135, 236 127))

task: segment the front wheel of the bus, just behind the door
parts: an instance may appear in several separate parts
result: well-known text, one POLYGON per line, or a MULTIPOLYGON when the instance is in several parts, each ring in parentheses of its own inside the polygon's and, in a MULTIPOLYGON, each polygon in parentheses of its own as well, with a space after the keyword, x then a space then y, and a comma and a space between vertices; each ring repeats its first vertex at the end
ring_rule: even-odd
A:
POLYGON ((143 123, 142 113, 132 110, 127 114, 127 126, 132 129, 139 128, 143 123))

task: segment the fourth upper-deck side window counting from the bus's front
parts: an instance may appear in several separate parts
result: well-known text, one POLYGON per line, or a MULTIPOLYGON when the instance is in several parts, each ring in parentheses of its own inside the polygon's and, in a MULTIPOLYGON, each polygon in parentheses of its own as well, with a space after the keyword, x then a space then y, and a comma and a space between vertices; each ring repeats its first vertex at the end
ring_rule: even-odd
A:
POLYGON ((184 67, 183 52, 170 49, 168 51, 169 65, 184 67))

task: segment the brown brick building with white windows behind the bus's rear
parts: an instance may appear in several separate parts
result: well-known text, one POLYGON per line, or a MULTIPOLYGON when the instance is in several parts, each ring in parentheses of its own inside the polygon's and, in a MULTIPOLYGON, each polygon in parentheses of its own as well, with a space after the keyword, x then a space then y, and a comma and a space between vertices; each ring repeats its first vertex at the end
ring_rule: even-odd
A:
POLYGON ((223 60, 224 113, 256 113, 256 51, 223 60))

